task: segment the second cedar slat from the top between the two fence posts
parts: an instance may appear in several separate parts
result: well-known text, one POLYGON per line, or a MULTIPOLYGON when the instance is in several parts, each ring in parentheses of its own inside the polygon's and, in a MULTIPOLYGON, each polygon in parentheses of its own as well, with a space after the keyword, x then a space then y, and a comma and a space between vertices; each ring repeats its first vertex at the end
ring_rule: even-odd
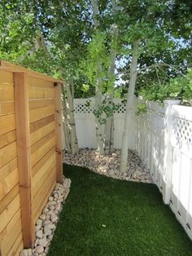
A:
POLYGON ((29 86, 28 99, 49 99, 54 98, 54 88, 43 88, 29 86))

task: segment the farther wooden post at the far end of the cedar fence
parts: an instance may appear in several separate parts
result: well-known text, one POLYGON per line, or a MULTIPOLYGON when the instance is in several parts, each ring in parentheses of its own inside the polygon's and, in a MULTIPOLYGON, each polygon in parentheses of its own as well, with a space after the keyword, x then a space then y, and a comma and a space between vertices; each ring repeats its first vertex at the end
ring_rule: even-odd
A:
POLYGON ((62 154, 62 102, 61 84, 55 83, 55 151, 56 151, 56 180, 63 183, 63 154, 62 154))

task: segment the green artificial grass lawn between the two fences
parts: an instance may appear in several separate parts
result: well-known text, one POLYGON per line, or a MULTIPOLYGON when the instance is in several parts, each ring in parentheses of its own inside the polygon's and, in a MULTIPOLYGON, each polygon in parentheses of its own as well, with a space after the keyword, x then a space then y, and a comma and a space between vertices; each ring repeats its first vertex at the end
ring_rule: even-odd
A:
POLYGON ((64 165, 72 179, 51 255, 192 255, 192 241, 154 184, 64 165))

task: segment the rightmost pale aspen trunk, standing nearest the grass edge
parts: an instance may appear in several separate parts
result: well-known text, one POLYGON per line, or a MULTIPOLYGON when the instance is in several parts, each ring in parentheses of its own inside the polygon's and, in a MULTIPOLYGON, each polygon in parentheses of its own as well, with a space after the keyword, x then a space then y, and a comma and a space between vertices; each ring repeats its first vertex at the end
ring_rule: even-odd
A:
POLYGON ((138 49, 139 49, 139 40, 133 42, 133 56, 130 68, 130 79, 129 79, 129 91, 127 95, 127 104, 126 112, 124 118, 124 131, 122 138, 122 148, 121 148, 121 158, 120 158, 120 171, 125 172, 127 170, 127 161, 128 161, 128 149, 129 149, 129 127, 131 123, 131 117, 133 113, 133 98, 135 91, 135 84, 137 79, 137 59, 138 59, 138 49))

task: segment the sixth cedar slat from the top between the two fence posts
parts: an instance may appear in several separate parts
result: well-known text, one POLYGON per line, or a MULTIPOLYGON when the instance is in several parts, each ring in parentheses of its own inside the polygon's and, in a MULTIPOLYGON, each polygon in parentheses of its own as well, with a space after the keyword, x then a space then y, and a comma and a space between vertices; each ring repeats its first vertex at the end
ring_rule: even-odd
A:
POLYGON ((33 131, 30 134, 31 145, 37 143, 40 139, 48 135, 51 131, 55 130, 55 122, 52 121, 46 126, 42 126, 40 129, 33 131))

